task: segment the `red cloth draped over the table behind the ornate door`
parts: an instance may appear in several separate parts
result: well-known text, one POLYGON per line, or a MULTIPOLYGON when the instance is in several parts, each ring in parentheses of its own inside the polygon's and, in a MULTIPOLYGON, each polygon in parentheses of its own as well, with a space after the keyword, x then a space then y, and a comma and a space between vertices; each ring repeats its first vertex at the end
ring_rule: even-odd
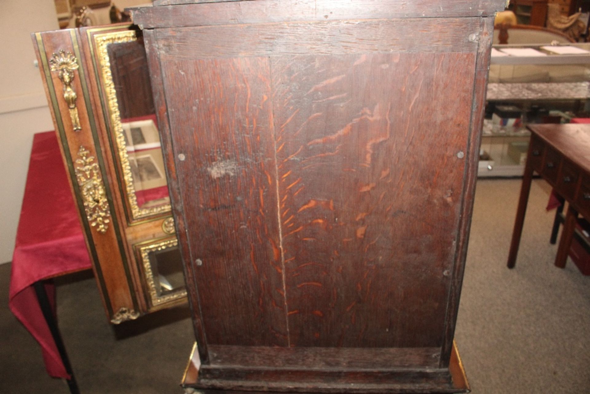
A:
MULTIPOLYGON (((9 307, 41 345, 49 375, 69 379, 32 284, 91 268, 55 132, 33 139, 12 256, 9 307)), ((55 288, 46 285, 50 302, 55 288)))

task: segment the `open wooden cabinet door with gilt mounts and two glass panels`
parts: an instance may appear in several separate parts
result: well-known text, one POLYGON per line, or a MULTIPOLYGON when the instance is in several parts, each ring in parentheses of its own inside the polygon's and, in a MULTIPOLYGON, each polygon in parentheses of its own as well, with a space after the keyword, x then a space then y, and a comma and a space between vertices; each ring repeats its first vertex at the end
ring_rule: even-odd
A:
POLYGON ((141 32, 32 38, 109 321, 186 302, 141 32))

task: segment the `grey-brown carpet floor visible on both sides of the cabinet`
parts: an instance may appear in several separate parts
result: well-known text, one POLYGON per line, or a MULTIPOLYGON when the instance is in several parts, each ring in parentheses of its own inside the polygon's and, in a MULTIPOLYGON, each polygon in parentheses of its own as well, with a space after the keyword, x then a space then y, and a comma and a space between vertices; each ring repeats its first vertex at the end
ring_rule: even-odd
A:
MULTIPOLYGON (((533 181, 516 268, 506 268, 519 180, 480 180, 455 339, 475 394, 590 393, 590 277, 555 268, 548 186, 533 181)), ((0 265, 0 393, 68 393, 8 310, 0 265)), ((107 324, 94 279, 58 283, 58 318, 82 394, 182 393, 188 309, 107 324)))

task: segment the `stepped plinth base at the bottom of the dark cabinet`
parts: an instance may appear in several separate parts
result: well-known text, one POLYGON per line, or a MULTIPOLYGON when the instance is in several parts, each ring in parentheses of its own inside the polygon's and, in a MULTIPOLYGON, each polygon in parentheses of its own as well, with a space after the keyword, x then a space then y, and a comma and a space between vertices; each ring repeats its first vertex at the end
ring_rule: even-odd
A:
MULTIPOLYGON (((222 347, 220 347, 222 348, 222 347)), ((223 347, 222 350, 235 350, 223 347)), ((186 367, 182 386, 187 393, 464 393, 469 391, 457 348, 453 347, 448 368, 425 365, 425 361, 438 363, 432 357, 432 349, 375 349, 374 358, 363 360, 332 359, 328 364, 316 364, 313 354, 333 352, 343 353, 342 356, 352 356, 356 349, 284 349, 284 353, 291 354, 291 359, 283 359, 276 363, 276 359, 260 357, 260 348, 253 348, 250 365, 245 364, 243 357, 237 351, 235 360, 231 362, 223 355, 213 359, 211 364, 201 365, 199 356, 193 351, 191 360, 186 367), (388 354, 386 354, 388 353, 388 354), (404 362, 402 356, 411 357, 404 362), (432 361, 424 356, 430 353, 432 361), (308 356, 302 359, 304 365, 296 367, 291 363, 296 357, 308 356), (380 357, 381 356, 381 357, 380 357), (421 360, 420 360, 421 359, 421 360), (226 361, 226 363, 219 363, 226 361), (309 361, 309 362, 308 362, 309 361), (411 366, 408 362, 421 362, 411 366), (386 363, 390 363, 387 367, 386 363), (371 367, 369 367, 371 365, 371 367)), ((276 348, 270 348, 276 351, 276 348)), ((325 354, 322 354, 325 356, 325 354)))

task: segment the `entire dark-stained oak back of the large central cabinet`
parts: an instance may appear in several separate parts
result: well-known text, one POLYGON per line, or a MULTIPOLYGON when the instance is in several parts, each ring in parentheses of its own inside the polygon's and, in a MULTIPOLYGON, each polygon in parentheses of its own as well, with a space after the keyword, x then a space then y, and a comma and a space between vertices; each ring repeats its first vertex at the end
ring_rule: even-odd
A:
POLYGON ((452 338, 493 17, 379 3, 319 1, 338 11, 323 20, 258 0, 140 17, 196 388, 467 390, 452 338))

